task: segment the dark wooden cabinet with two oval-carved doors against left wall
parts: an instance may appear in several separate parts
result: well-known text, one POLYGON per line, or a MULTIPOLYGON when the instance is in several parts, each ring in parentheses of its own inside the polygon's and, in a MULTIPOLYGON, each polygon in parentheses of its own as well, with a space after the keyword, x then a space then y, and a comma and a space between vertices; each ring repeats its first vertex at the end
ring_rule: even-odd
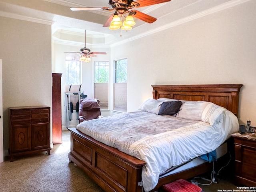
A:
POLYGON ((47 151, 50 155, 50 107, 9 108, 9 154, 14 156, 47 151))

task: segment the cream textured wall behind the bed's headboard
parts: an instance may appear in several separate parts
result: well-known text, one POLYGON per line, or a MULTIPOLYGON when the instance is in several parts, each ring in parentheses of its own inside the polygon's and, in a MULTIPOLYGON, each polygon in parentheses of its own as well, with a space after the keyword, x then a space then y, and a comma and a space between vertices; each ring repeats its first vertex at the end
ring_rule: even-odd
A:
POLYGON ((256 126, 256 1, 113 47, 128 57, 128 111, 157 84, 244 84, 239 120, 256 126))

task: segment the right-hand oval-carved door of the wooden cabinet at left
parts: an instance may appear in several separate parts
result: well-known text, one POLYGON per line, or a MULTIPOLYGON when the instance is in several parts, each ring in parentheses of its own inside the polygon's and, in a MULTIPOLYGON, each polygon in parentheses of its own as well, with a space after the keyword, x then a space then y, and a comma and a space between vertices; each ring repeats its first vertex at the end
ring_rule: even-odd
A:
POLYGON ((32 150, 50 147, 49 123, 32 124, 32 150))

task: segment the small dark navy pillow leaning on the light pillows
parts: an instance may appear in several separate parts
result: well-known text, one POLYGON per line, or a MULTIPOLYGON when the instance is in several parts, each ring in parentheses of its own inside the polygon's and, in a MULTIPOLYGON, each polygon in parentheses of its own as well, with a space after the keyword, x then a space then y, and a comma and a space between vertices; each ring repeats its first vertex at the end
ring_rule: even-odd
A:
POLYGON ((174 115, 179 111, 181 105, 181 101, 163 102, 160 106, 158 115, 174 115))

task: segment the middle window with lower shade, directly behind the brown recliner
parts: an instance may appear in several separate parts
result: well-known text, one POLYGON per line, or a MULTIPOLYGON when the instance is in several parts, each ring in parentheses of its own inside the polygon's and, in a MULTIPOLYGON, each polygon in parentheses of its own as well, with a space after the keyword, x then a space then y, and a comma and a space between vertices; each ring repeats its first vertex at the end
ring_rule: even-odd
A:
POLYGON ((108 62, 94 62, 94 77, 94 98, 101 109, 108 109, 108 62))

